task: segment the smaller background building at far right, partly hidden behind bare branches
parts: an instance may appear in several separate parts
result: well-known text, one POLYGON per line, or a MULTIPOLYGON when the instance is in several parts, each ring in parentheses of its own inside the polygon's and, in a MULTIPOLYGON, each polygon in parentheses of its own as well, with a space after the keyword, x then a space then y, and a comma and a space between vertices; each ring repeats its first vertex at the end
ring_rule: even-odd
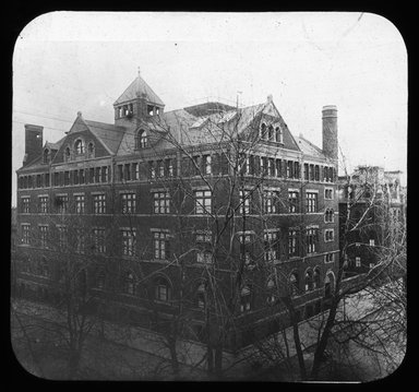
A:
POLYGON ((380 166, 358 166, 349 176, 338 177, 340 261, 347 276, 374 268, 383 250, 403 235, 406 189, 402 175, 380 166))

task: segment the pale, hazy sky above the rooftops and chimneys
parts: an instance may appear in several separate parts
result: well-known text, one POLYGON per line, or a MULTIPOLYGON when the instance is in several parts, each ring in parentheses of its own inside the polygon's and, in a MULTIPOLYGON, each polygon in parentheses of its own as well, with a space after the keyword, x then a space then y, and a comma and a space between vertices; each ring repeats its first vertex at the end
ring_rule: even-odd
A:
POLYGON ((44 142, 56 142, 77 111, 112 123, 112 104, 139 68, 166 111, 207 100, 248 106, 273 95, 291 133, 320 147, 322 107, 336 105, 349 170, 407 171, 407 51, 383 16, 51 12, 29 22, 14 47, 12 205, 24 124, 43 126, 44 142))

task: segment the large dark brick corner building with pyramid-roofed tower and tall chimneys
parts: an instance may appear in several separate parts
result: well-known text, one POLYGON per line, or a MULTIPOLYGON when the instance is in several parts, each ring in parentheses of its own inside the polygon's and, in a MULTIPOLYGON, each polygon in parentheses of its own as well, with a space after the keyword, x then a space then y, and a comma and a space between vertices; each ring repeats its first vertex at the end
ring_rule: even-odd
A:
POLYGON ((299 318, 321 311, 338 263, 335 106, 323 149, 291 134, 272 96, 165 112, 139 74, 113 108, 113 124, 79 112, 56 143, 25 126, 21 295, 59 300, 73 261, 107 317, 156 328, 182 309, 189 337, 223 325, 229 348, 286 325, 282 297, 299 318))

